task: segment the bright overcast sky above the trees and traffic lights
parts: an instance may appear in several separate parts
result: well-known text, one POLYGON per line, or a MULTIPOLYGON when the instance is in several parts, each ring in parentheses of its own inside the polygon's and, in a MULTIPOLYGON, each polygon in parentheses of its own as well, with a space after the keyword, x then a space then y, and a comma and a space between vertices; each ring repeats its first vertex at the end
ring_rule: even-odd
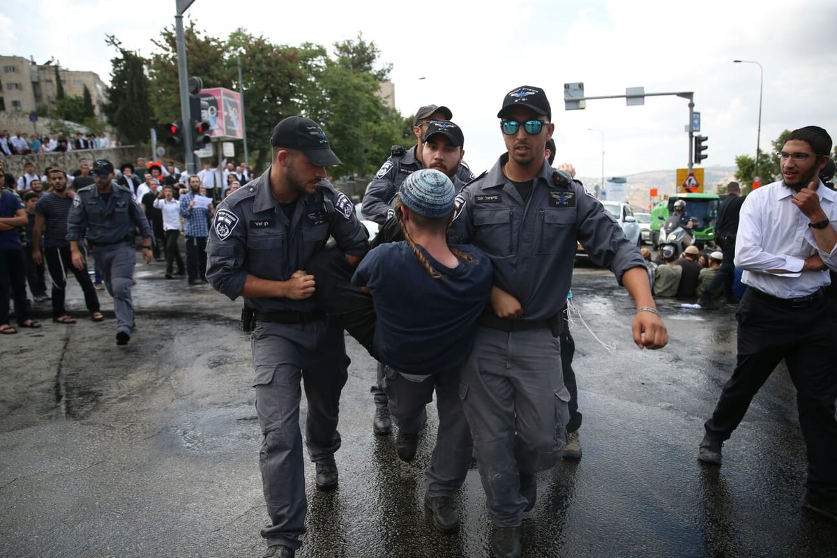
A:
MULTIPOLYGON (((175 6, 175 0, 7 3, 0 53, 39 63, 55 57, 108 82, 115 53, 105 33, 151 54, 150 38, 173 24, 175 6)), ((215 36, 243 27, 274 44, 331 48, 362 32, 393 64, 398 110, 408 115, 420 105, 447 105, 465 131, 465 160, 475 171, 503 151, 496 113, 506 92, 522 84, 546 90, 557 160, 573 162, 581 176, 601 174, 602 136, 607 177, 687 165, 687 100, 654 96, 630 107, 624 99, 589 100, 586 110, 567 111, 567 82, 583 82, 588 96, 624 95, 639 86, 646 93, 693 91, 701 134, 709 137, 705 166, 732 166, 738 155, 755 155, 760 75, 756 64, 733 59, 763 66, 763 151, 783 130, 803 125, 821 125, 837 138, 834 0, 196 0, 187 18, 215 36)))

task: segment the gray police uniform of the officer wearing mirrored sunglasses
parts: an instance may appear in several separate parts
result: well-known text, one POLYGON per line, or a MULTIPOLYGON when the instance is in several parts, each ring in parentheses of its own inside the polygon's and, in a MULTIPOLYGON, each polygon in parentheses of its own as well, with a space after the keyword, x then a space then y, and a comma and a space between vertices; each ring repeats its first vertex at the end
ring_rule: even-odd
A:
POLYGON ((473 243, 494 265, 494 284, 518 299, 519 320, 488 310, 462 369, 460 397, 474 438, 480 477, 495 525, 521 525, 528 500, 521 478, 561 458, 569 392, 557 333, 573 278, 576 242, 614 271, 643 267, 639 249, 580 185, 543 162, 528 200, 502 171, 508 154, 457 197, 451 243, 473 243))

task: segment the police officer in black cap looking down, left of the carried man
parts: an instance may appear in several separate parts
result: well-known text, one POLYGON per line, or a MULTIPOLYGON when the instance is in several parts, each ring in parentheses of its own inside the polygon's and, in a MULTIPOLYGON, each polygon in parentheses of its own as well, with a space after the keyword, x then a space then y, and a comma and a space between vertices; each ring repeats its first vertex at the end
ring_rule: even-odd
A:
POLYGON ((321 127, 302 116, 282 120, 270 137, 264 174, 218 206, 207 244, 207 279, 254 310, 251 334, 261 463, 270 525, 265 556, 293 556, 305 532, 306 486, 299 427, 300 379, 308 401, 306 447, 316 487, 335 489, 337 414, 349 359, 343 330, 326 320, 312 295, 306 262, 329 236, 352 265, 367 252, 366 228, 352 201, 326 181, 339 165, 321 127))

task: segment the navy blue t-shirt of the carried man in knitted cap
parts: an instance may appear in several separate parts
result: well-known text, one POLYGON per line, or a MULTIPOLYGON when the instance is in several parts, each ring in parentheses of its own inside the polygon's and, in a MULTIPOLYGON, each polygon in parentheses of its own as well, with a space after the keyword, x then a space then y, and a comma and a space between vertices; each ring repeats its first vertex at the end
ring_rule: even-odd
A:
MULTIPOLYGON (((420 247, 419 247, 420 248, 420 247)), ((459 366, 474 347, 476 321, 491 294, 491 261, 479 248, 456 246, 473 260, 445 267, 424 251, 442 275, 434 279, 406 242, 373 248, 352 284, 372 294, 380 360, 408 374, 436 374, 459 366)))

